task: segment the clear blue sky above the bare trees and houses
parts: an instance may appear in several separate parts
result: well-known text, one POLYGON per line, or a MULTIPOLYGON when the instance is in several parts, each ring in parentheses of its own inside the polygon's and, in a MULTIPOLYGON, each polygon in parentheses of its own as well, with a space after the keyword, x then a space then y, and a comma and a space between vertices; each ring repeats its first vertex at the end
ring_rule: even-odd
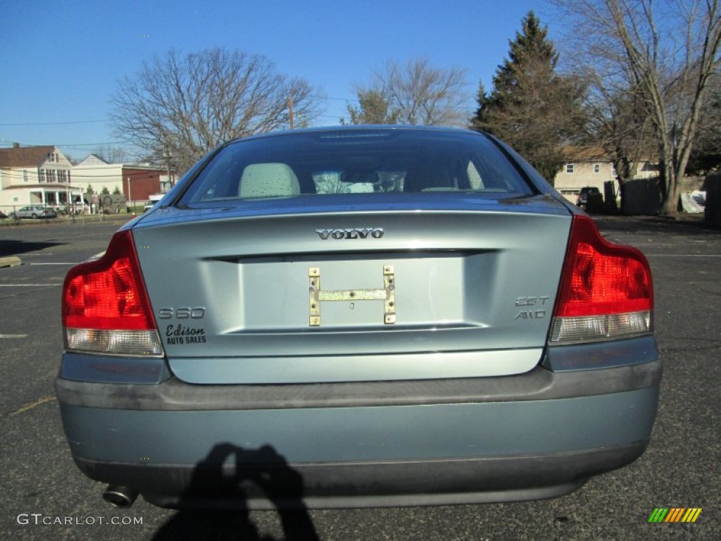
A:
POLYGON ((107 120, 118 79, 170 48, 260 53, 327 95, 319 125, 348 117, 354 83, 389 59, 466 70, 469 114, 508 40, 544 0, 4 0, 0 3, 0 148, 56 144, 81 159, 117 144, 107 120))

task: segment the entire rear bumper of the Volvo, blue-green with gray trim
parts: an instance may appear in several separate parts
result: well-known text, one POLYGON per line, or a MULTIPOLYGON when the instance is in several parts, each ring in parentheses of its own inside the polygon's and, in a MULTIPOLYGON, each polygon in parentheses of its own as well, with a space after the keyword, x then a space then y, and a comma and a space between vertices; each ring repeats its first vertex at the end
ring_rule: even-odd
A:
POLYGON ((152 503, 392 506, 559 496, 622 467, 647 445, 660 375, 650 361, 345 384, 61 378, 56 390, 79 468, 152 503))

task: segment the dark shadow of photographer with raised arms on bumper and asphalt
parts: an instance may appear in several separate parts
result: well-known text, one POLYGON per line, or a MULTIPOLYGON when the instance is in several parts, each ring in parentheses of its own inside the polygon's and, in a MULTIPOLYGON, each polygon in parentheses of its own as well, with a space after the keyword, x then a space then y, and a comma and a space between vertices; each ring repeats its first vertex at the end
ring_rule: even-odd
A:
POLYGON ((190 486, 180 498, 181 510, 153 539, 277 541, 260 537, 250 520, 249 500, 265 499, 278 511, 286 540, 318 540, 303 490, 301 475, 270 445, 247 451, 218 444, 193 470, 190 486), (234 465, 228 461, 233 456, 234 465), (205 509, 208 503, 211 509, 205 509))

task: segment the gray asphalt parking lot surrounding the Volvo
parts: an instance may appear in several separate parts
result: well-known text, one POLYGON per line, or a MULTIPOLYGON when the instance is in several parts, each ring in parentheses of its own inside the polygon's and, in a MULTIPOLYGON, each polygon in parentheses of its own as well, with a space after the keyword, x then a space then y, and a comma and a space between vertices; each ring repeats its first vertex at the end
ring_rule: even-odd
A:
POLYGON ((401 509, 191 513, 138 498, 102 501, 76 470, 53 379, 62 349, 60 291, 71 265, 105 249, 118 222, 0 227, 0 539, 647 540, 721 531, 721 232, 660 219, 597 219, 647 255, 664 361, 647 452, 622 470, 548 501, 401 509), (693 524, 649 523, 655 508, 701 508, 693 524))

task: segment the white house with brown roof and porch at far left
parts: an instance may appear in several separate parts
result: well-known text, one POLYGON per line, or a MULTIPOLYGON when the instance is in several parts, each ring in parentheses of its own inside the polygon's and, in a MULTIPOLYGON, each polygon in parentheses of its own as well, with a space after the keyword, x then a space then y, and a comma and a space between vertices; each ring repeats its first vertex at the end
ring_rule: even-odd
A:
POLYGON ((82 199, 72 164, 56 146, 0 149, 0 211, 26 205, 71 206, 82 199))

